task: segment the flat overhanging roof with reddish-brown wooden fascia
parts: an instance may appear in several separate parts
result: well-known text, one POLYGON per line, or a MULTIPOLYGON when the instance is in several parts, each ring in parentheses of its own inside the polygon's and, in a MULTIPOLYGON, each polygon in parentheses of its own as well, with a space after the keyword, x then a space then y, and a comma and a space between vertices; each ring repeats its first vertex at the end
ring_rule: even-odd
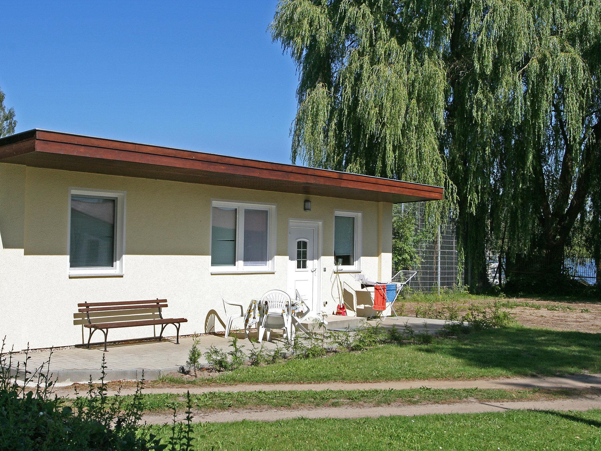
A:
POLYGON ((440 186, 41 129, 0 138, 0 162, 392 203, 443 193, 440 186))

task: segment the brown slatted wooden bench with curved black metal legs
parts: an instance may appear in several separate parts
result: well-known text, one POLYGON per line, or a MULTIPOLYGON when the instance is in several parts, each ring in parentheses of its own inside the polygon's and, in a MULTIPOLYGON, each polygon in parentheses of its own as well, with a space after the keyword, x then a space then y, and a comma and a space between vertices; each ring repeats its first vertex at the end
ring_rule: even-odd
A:
MULTIPOLYGON (((97 330, 105 334, 109 329, 120 327, 137 327, 160 325, 159 342, 163 338, 163 331, 169 324, 177 329, 175 343, 180 343, 180 326, 188 322, 186 318, 163 318, 162 309, 167 307, 166 299, 155 299, 154 301, 123 301, 123 302, 84 302, 78 305, 78 312, 73 315, 73 324, 81 324, 90 329, 88 337, 88 348, 90 340, 97 330)), ((82 331, 83 332, 83 331, 82 331)))

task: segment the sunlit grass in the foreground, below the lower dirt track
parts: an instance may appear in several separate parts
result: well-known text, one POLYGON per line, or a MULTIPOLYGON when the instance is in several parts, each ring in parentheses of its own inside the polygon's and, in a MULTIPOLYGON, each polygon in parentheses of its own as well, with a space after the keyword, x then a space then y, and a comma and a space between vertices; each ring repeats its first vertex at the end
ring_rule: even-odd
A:
MULTIPOLYGON (((594 450, 601 411, 450 414, 418 417, 194 425, 204 450, 594 450)), ((153 432, 168 440, 169 426, 153 432)))

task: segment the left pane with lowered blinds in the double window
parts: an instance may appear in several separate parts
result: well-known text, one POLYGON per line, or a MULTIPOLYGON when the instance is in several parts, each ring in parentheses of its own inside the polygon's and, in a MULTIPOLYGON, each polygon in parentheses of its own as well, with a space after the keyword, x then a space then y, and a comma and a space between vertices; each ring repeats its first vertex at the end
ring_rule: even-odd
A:
POLYGON ((211 265, 236 265, 237 208, 213 206, 211 265))

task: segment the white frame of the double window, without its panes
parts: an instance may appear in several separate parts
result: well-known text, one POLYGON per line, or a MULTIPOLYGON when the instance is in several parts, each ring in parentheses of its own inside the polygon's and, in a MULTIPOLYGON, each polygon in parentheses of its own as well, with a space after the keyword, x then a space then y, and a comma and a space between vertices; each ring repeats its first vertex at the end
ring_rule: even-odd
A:
POLYGON ((258 272, 275 272, 275 241, 277 205, 246 201, 211 199, 211 215, 209 227, 209 257, 212 258, 213 245, 213 207, 236 208, 236 263, 233 266, 210 267, 211 274, 257 274, 258 272), (244 209, 267 211, 267 265, 244 266, 244 209))

